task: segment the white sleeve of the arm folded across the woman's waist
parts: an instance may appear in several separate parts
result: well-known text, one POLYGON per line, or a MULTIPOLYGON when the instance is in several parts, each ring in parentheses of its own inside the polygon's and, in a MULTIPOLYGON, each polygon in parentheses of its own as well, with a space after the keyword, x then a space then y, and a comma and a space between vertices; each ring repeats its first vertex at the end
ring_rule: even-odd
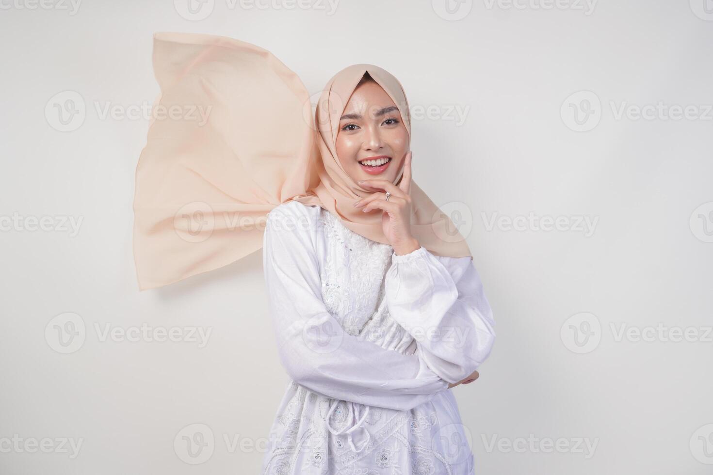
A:
POLYGON ((419 355, 349 335, 322 301, 316 220, 297 202, 267 215, 265 282, 280 360, 297 384, 332 399, 413 409, 446 390, 419 355))

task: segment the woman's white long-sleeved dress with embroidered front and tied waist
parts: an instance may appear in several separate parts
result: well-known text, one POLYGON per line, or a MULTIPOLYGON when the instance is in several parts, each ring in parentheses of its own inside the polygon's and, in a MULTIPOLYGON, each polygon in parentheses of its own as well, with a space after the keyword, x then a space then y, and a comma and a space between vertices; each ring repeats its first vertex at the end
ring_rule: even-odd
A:
POLYGON ((397 256, 295 201, 268 214, 263 244, 291 381, 262 474, 473 474, 470 434, 448 389, 495 338, 471 258, 424 247, 397 256))

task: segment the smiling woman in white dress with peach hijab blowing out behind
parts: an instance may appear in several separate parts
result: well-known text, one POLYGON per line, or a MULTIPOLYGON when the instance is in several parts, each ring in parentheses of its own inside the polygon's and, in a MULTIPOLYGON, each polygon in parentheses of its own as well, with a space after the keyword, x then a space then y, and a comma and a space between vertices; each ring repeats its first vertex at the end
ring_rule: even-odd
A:
POLYGON ((135 199, 140 286, 247 254, 255 229, 221 226, 219 210, 267 216, 270 315, 291 381, 262 473, 473 473, 450 388, 478 377, 494 321, 464 239, 411 179, 401 83, 373 65, 344 68, 305 127, 307 91, 249 43, 157 33, 154 66, 162 104, 218 112, 204 128, 150 129, 135 199), (289 127, 261 135, 258 110, 289 127), (166 226, 197 200, 208 231, 166 226))

